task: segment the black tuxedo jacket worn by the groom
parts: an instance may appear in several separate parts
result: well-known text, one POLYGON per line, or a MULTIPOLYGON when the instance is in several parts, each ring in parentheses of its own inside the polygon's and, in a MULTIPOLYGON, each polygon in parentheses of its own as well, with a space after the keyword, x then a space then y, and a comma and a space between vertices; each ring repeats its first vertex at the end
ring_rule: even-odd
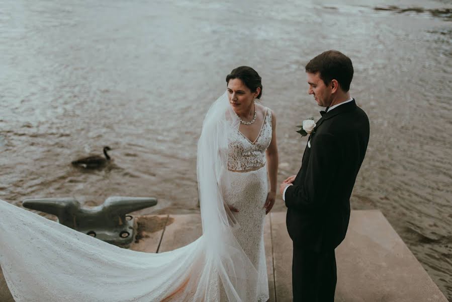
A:
POLYGON ((286 190, 287 230, 295 244, 321 251, 345 238, 350 195, 369 142, 369 118, 355 100, 324 114, 301 169, 286 190))

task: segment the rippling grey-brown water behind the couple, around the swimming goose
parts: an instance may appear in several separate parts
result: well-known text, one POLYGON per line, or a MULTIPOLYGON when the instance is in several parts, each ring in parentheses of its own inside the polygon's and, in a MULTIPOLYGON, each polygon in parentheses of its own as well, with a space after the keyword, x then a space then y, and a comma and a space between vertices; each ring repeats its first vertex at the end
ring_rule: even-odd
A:
POLYGON ((282 181, 305 146, 294 126, 319 116, 304 65, 336 48, 371 121, 352 206, 382 210, 452 299, 452 6, 317 3, 0 0, 0 198, 155 196, 142 213, 198 211, 202 120, 243 64, 278 117, 282 181), (104 145, 110 169, 71 167, 104 145))

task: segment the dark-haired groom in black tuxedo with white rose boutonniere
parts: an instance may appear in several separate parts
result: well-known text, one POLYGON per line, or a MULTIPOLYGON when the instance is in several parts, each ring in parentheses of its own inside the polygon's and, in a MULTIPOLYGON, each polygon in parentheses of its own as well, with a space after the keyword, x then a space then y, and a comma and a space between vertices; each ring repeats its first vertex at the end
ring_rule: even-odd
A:
MULTIPOLYGON (((281 184, 293 241, 294 302, 334 301, 334 249, 347 232, 350 195, 369 142, 369 119, 350 98, 350 58, 325 51, 306 65, 308 93, 326 107, 310 136, 297 175, 281 184)), ((310 131, 312 130, 312 132, 310 131)))

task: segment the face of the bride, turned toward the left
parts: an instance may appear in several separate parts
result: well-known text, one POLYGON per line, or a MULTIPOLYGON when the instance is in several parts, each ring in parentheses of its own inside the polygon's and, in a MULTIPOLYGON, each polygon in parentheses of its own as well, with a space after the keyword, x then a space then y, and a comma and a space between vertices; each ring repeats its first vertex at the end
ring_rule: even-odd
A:
MULTIPOLYGON (((258 90, 258 89, 257 89, 258 90)), ((245 112, 249 110, 253 100, 259 94, 258 91, 251 90, 243 84, 240 79, 231 79, 228 83, 229 103, 235 112, 245 112)))

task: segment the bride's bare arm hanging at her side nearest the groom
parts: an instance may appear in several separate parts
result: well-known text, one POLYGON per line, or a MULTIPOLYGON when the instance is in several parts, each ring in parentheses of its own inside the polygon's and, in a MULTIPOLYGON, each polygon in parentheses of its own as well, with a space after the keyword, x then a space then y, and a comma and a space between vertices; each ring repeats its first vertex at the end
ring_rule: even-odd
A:
POLYGON ((277 177, 278 177, 278 145, 276 143, 276 116, 272 111, 272 140, 266 150, 268 178, 270 179, 270 192, 265 202, 266 213, 268 213, 275 203, 277 177))

